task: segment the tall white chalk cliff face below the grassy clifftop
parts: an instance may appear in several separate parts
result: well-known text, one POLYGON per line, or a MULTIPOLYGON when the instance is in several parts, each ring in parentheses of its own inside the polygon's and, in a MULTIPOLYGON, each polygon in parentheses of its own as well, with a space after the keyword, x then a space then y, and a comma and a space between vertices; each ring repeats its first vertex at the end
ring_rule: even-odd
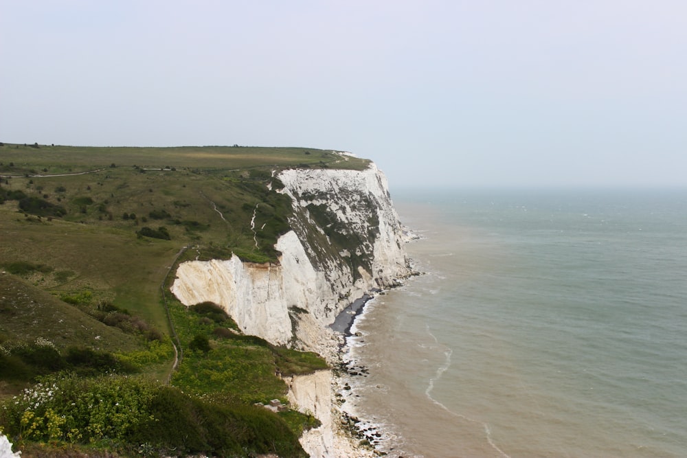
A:
POLYGON ((172 293, 190 306, 212 301, 246 334, 322 350, 322 330, 355 299, 407 277, 403 231, 374 164, 356 170, 284 170, 291 231, 278 264, 184 262, 172 293))

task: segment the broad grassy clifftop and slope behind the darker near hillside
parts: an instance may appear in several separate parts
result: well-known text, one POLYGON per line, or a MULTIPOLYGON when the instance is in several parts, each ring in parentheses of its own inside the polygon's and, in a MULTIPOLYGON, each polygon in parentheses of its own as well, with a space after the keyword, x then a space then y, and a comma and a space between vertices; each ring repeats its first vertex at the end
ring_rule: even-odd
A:
POLYGON ((58 295, 87 288, 163 328, 164 314, 148 304, 181 247, 274 259, 291 207, 274 192, 273 170, 366 165, 304 148, 4 144, 0 264, 45 266, 24 276, 58 295))

